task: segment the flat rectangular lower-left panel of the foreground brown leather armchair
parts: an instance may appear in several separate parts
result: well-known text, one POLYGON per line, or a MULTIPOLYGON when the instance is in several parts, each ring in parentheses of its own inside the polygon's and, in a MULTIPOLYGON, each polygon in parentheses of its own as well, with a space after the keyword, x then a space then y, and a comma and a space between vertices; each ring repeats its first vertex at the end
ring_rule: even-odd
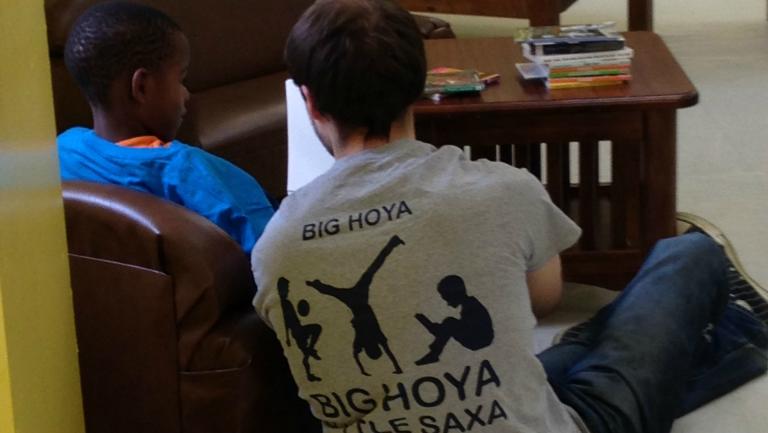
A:
POLYGON ((176 431, 172 278, 76 254, 70 270, 86 430, 176 431))

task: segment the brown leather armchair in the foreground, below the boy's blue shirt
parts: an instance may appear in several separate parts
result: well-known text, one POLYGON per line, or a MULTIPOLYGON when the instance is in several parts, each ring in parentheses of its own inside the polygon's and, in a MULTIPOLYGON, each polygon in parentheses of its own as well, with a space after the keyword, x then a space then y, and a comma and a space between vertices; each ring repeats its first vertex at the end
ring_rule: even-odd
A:
POLYGON ((233 240, 148 194, 63 192, 88 433, 320 431, 233 240))

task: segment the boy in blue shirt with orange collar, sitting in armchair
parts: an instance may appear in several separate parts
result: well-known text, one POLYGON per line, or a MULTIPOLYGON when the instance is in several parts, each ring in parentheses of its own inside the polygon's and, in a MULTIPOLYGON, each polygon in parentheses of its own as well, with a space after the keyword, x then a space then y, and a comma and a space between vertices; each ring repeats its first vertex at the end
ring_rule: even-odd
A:
POLYGON ((58 138, 64 180, 122 185, 195 211, 250 253, 273 208, 247 173, 175 141, 189 92, 189 43, 160 11, 132 3, 89 8, 64 60, 88 99, 93 130, 58 138))

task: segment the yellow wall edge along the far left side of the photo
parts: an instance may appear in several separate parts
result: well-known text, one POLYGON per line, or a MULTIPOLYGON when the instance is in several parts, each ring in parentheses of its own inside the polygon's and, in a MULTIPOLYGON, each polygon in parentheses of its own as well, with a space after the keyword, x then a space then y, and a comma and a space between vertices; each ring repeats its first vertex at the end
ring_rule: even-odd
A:
POLYGON ((84 431, 43 0, 0 0, 0 432, 84 431))

